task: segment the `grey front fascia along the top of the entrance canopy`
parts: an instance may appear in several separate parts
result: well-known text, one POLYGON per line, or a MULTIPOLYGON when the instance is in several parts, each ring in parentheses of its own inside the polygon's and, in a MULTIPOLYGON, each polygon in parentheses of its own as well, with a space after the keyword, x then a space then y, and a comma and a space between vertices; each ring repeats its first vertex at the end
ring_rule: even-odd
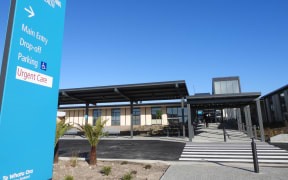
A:
POLYGON ((255 97, 261 96, 261 92, 250 92, 250 93, 238 93, 238 94, 213 94, 210 96, 187 96, 187 101, 189 100, 199 100, 199 99, 229 99, 229 98, 245 98, 245 97, 255 97))

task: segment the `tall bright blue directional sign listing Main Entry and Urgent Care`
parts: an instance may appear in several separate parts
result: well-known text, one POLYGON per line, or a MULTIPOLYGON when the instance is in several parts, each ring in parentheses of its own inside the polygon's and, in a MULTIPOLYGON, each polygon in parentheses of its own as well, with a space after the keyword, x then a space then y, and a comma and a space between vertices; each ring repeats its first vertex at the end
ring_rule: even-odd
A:
POLYGON ((66 0, 11 0, 0 78, 0 180, 52 178, 66 0))

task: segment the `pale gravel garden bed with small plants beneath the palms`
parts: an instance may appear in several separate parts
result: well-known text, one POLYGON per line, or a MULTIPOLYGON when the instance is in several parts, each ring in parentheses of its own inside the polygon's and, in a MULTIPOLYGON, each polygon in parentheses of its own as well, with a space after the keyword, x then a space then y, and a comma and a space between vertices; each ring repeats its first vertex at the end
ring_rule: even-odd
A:
POLYGON ((123 161, 98 161, 97 166, 89 166, 86 161, 77 161, 76 167, 72 167, 70 161, 59 161, 54 165, 53 180, 64 180, 66 176, 71 175, 74 180, 116 180, 121 179, 125 174, 134 171, 133 179, 139 180, 159 180, 165 173, 168 165, 162 163, 153 163, 151 169, 145 169, 147 164, 123 161), (127 164, 126 164, 127 163, 127 164), (111 174, 102 175, 100 171, 104 166, 112 167, 111 174), (136 172, 136 173, 135 173, 136 172))

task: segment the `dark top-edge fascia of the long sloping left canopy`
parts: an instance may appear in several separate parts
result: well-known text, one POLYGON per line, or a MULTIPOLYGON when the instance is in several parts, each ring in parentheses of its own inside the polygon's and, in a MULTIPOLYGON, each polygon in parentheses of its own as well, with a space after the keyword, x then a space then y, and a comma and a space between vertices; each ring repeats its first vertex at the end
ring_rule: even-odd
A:
MULTIPOLYGON (((165 82, 153 82, 153 83, 139 83, 139 84, 124 84, 124 85, 111 85, 111 86, 98 86, 98 87, 85 87, 85 88, 71 88, 71 89, 60 89, 59 92, 75 92, 75 91, 89 91, 89 90, 105 90, 105 89, 115 89, 115 88, 133 88, 133 87, 143 87, 143 86, 159 86, 159 85, 173 85, 173 84, 184 84, 187 89, 185 80, 180 81, 165 81, 165 82)), ((187 94, 188 89, 187 89, 187 94)))

